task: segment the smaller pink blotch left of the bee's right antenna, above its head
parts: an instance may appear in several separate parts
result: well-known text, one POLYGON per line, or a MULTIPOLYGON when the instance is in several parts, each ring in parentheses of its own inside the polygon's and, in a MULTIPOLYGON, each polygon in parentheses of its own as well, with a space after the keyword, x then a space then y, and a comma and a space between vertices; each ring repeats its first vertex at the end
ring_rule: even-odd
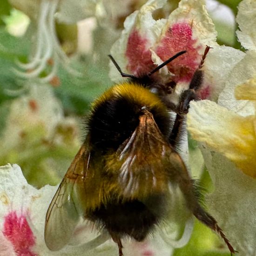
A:
POLYGON ((129 35, 125 55, 128 59, 127 70, 135 76, 148 74, 155 67, 151 60, 148 40, 136 29, 129 35))

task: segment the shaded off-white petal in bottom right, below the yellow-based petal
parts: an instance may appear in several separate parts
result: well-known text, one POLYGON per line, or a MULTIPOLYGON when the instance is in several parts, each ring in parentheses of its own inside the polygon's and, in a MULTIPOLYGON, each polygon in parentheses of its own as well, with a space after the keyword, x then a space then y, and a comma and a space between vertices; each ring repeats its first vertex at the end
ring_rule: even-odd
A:
POLYGON ((241 256, 256 255, 256 180, 244 175, 221 154, 202 148, 215 191, 208 196, 209 212, 218 220, 241 256))

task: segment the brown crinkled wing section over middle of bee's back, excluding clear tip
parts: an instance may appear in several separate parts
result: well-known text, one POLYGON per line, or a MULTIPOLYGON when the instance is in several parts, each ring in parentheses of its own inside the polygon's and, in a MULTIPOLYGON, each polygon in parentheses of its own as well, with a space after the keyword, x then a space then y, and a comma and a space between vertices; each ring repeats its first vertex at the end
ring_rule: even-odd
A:
POLYGON ((127 197, 143 198, 167 190, 166 162, 172 152, 153 115, 145 111, 134 133, 117 150, 119 183, 127 197))

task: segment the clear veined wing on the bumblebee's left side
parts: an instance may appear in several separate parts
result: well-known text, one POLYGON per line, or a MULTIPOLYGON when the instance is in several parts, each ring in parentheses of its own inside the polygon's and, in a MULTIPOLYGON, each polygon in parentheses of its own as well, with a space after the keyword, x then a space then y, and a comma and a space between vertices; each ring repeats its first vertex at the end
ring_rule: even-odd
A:
POLYGON ((84 178, 89 158, 90 152, 83 144, 49 205, 45 221, 45 242, 51 250, 59 250, 68 243, 85 212, 84 178))

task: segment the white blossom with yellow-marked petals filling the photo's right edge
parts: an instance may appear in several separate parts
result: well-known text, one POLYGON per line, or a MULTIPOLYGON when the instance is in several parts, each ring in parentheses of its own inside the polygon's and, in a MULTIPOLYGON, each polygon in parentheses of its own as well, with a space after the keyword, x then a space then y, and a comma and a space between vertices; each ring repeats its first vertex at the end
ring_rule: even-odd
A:
POLYGON ((247 50, 224 47, 232 59, 217 103, 192 102, 187 120, 215 187, 207 200, 209 209, 244 256, 256 255, 255 13, 255 1, 239 4, 237 37, 247 50))

